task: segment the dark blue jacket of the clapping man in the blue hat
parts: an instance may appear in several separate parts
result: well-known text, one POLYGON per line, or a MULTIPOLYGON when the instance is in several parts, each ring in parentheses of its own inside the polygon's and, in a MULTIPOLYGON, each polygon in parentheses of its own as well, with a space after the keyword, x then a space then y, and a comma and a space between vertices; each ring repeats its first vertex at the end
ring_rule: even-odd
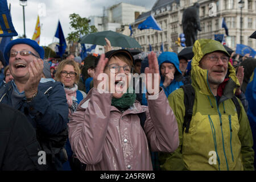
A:
MULTIPOLYGON (((8 82, 0 88, 0 102, 13 106, 11 93, 13 86, 8 82)), ((48 135, 57 134, 67 128, 68 104, 61 82, 39 83, 38 94, 31 102, 24 97, 15 109, 24 113, 34 128, 48 135)))

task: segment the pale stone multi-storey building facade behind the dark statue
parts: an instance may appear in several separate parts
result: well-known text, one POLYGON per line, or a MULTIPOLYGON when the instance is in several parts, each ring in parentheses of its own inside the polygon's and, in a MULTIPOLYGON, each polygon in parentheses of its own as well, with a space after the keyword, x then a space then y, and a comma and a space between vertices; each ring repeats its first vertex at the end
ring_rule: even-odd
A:
MULTIPOLYGON (((201 30, 197 39, 214 39, 214 34, 225 34, 222 28, 222 18, 229 29, 226 36, 226 44, 233 50, 236 44, 240 44, 241 36, 241 8, 238 6, 240 0, 199 0, 201 30)), ((256 30, 256 1, 244 0, 242 8, 242 44, 256 49, 255 39, 249 36, 256 30)), ((179 52, 182 47, 177 46, 177 39, 183 32, 182 15, 187 7, 192 6, 193 0, 158 0, 152 9, 139 17, 132 24, 133 38, 142 46, 142 51, 149 51, 149 44, 154 51, 160 51, 162 44, 164 51, 179 52), (138 24, 142 23, 149 15, 154 15, 163 31, 139 30, 138 24)))

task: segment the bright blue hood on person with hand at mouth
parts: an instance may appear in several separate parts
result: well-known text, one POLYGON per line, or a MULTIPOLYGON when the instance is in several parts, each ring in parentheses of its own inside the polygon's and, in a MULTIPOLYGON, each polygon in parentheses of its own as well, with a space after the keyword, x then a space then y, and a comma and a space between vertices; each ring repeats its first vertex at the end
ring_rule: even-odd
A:
POLYGON ((175 52, 163 52, 158 57, 158 64, 159 64, 159 73, 161 76, 161 80, 163 80, 163 76, 161 74, 160 66, 162 63, 172 63, 174 64, 176 68, 176 72, 174 74, 175 80, 181 80, 182 79, 182 73, 179 68, 179 59, 177 57, 177 54, 175 52))

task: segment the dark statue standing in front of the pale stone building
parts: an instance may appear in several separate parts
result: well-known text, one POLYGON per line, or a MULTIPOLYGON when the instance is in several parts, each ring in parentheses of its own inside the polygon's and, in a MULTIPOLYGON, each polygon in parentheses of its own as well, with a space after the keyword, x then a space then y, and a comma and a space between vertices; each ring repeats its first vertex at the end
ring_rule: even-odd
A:
POLYGON ((184 10, 182 16, 183 33, 185 34, 186 46, 193 46, 197 39, 197 30, 201 31, 199 18, 199 3, 184 10))

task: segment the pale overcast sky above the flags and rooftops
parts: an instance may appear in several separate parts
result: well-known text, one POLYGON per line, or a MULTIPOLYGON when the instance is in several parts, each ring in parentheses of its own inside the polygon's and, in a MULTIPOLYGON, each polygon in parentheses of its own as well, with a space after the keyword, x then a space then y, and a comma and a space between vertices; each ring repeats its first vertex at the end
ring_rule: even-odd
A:
MULTIPOLYGON (((38 14, 43 14, 39 10, 40 4, 46 6, 46 16, 40 16, 41 35, 40 46, 48 46, 52 41, 57 29, 57 22, 60 19, 61 27, 65 37, 71 32, 69 28, 69 14, 76 13, 81 17, 102 16, 103 7, 110 7, 119 2, 130 3, 133 5, 144 6, 151 9, 157 0, 28 0, 25 6, 25 26, 27 38, 32 38, 36 26, 38 14)), ((20 36, 24 34, 23 29, 23 9, 18 0, 7 0, 8 6, 11 3, 11 17, 14 28, 20 36)), ((14 37, 14 39, 17 38, 14 37)))

